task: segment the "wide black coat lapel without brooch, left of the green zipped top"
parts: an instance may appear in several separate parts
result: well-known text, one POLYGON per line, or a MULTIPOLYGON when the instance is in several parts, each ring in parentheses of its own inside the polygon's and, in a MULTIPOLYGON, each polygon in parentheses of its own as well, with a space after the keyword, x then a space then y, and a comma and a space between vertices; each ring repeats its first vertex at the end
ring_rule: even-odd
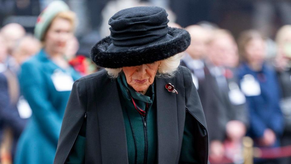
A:
POLYGON ((95 93, 102 163, 128 164, 125 125, 116 80, 103 79, 99 79, 101 85, 95 84, 101 86, 95 87, 95 93))

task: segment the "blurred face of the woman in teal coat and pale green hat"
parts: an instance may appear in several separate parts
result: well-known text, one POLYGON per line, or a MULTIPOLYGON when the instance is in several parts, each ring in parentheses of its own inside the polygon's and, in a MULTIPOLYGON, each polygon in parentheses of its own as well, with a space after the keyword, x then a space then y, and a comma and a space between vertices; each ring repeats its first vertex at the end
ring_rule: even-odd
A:
POLYGON ((71 23, 66 19, 56 18, 45 35, 45 47, 52 53, 64 53, 66 43, 72 36, 71 23))

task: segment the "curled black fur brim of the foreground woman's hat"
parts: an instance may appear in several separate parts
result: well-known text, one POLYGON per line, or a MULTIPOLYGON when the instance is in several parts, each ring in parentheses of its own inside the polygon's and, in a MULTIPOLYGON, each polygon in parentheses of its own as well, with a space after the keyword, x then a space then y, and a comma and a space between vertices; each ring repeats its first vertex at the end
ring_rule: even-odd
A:
POLYGON ((121 68, 138 66, 164 60, 185 51, 191 42, 185 29, 168 28, 166 40, 143 46, 117 47, 109 36, 97 42, 91 49, 91 58, 99 67, 121 68))

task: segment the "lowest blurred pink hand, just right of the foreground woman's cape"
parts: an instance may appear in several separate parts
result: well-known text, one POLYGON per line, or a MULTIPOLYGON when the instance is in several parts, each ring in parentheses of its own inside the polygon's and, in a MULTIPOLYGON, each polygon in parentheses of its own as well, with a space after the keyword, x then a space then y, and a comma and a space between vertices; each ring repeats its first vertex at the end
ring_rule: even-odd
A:
POLYGON ((214 140, 210 143, 209 148, 209 157, 212 159, 212 161, 220 162, 224 156, 223 144, 218 140, 214 140))

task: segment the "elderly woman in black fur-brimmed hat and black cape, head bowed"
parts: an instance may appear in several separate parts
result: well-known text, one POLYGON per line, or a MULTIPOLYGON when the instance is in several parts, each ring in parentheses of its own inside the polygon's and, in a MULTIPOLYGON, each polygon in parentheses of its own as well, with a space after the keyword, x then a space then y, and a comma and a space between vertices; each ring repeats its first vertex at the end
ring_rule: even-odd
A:
POLYGON ((77 80, 65 111, 57 163, 203 163, 208 134, 191 72, 190 44, 159 7, 109 20, 111 35, 91 51, 105 70, 77 80))

